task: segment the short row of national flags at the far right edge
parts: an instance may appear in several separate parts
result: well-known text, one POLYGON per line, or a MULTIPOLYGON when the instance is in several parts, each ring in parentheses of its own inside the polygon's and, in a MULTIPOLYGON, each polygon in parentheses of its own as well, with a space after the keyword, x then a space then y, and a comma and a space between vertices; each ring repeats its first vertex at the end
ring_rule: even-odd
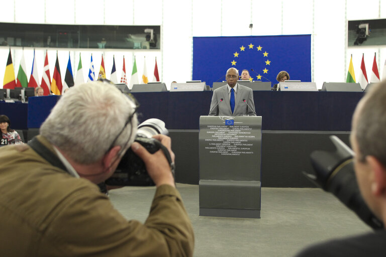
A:
MULTIPOLYGON (((384 61, 383 66, 383 79, 386 78, 386 60, 384 61)), ((372 62, 372 69, 370 78, 367 77, 366 67, 364 65, 364 54, 362 54, 362 61, 360 63, 359 77, 358 80, 355 80, 354 66, 352 64, 352 55, 350 59, 350 64, 348 66, 347 72, 347 83, 359 83, 360 87, 364 89, 369 83, 376 83, 380 81, 378 66, 376 65, 376 53, 374 53, 374 60, 372 62)))

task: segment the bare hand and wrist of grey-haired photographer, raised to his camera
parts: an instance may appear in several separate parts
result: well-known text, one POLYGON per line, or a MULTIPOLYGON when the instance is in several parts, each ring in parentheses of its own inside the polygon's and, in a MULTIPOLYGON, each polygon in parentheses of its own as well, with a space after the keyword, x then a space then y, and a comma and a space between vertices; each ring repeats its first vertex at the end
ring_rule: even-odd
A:
MULTIPOLYGON (((175 155, 171 151, 171 139, 165 135, 155 135, 153 138, 160 141, 161 144, 167 148, 171 157, 171 161, 174 163, 175 155)), ((164 184, 175 187, 174 177, 170 169, 170 164, 162 150, 158 150, 154 154, 150 154, 137 142, 134 142, 131 145, 131 149, 143 160, 149 176, 157 187, 164 184)))

